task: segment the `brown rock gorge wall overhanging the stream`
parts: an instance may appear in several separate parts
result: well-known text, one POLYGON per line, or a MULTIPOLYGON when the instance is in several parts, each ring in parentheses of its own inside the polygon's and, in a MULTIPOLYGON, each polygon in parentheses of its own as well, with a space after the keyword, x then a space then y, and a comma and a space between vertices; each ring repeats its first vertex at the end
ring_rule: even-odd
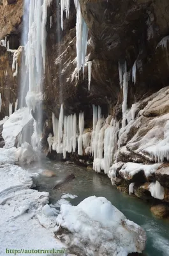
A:
MULTIPOLYGON (((80 0, 79 3, 89 31, 86 59, 92 61, 91 86, 88 90, 87 63, 84 74, 81 70, 78 77, 77 18, 73 1, 70 1, 68 19, 64 13, 62 30, 61 6, 53 0, 48 7, 46 24, 44 150, 48 150, 48 156, 57 157, 54 150, 49 152, 47 140, 50 133, 54 135, 52 113, 59 118, 62 104, 64 115, 84 112, 84 138, 87 138, 83 156, 76 150, 66 158, 90 165, 94 147, 93 105, 100 106, 104 118, 100 118, 95 147, 101 147, 103 152, 101 157, 96 152, 94 170, 107 173, 122 191, 160 204, 164 210, 161 215, 168 216, 169 3, 167 0, 80 0), (124 73, 127 73, 128 84, 125 84, 124 73), (111 150, 106 145, 108 132, 107 145, 111 150), (110 163, 105 166, 107 162, 110 163)), ((10 48, 9 51, 3 43, 0 45, 2 119, 8 115, 9 104, 13 104, 14 111, 17 99, 19 102, 21 57, 14 77, 12 62, 13 50, 21 45, 23 1, 0 1, 0 12, 3 13, 0 39, 5 40, 6 36, 10 48)))

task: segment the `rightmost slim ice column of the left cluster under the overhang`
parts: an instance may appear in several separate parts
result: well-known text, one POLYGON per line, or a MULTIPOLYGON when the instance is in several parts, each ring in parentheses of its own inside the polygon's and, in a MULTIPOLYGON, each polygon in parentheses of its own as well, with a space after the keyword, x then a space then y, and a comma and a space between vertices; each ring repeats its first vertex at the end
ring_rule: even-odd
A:
POLYGON ((82 156, 83 155, 84 113, 79 113, 78 127, 79 127, 78 155, 82 156))

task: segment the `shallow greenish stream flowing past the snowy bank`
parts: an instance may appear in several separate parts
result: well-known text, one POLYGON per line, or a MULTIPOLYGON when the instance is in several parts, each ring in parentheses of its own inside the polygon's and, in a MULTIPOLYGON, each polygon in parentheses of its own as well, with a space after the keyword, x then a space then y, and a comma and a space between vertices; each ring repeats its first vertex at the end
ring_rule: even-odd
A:
POLYGON ((145 254, 149 256, 169 255, 169 220, 159 220, 151 214, 150 205, 135 196, 122 193, 112 186, 110 179, 99 175, 93 170, 76 166, 74 164, 59 163, 42 158, 37 166, 29 168, 29 172, 40 174, 38 190, 50 193, 50 203, 55 204, 61 199, 62 193, 77 195, 75 199, 68 199, 72 205, 79 204, 88 196, 104 196, 110 200, 131 221, 141 225, 147 233, 145 254), (50 170, 55 177, 45 177, 42 172, 50 170), (59 189, 53 190, 58 180, 74 173, 76 179, 64 184, 59 189))

